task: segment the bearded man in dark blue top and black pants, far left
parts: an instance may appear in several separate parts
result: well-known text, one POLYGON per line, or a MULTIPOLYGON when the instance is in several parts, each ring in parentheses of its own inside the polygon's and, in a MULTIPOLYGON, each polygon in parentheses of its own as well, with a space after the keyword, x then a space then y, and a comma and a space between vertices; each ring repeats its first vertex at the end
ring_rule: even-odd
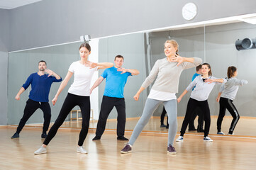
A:
POLYGON ((43 123, 43 133, 41 137, 47 137, 46 132, 49 128, 51 117, 50 105, 48 103, 50 86, 52 85, 52 82, 62 81, 62 78, 55 72, 52 72, 52 70, 46 69, 46 62, 43 60, 38 62, 38 69, 38 72, 30 74, 26 83, 23 84, 20 91, 18 91, 18 94, 15 97, 15 99, 19 101, 21 94, 26 91, 28 86, 31 84, 31 91, 28 96, 29 98, 26 102, 26 106, 24 108, 23 117, 18 124, 16 133, 14 133, 11 139, 20 137, 19 133, 21 132, 22 128, 24 127, 30 116, 33 115, 33 113, 35 113, 38 108, 43 111, 43 118, 45 120, 43 123), (45 72, 48 74, 45 74, 45 72))

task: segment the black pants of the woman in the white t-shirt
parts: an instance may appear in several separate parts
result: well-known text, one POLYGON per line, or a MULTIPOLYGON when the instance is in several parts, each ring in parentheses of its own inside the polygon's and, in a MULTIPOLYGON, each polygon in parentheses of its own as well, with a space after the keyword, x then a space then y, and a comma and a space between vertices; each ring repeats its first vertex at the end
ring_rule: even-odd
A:
POLYGON ((65 98, 65 101, 60 110, 60 114, 55 120, 55 123, 52 125, 52 128, 50 128, 48 136, 45 138, 45 141, 43 142, 44 145, 48 145, 50 140, 52 140, 52 138, 55 137, 57 130, 65 121, 65 119, 67 118, 67 115, 70 113, 70 111, 72 111, 72 108, 74 108, 74 106, 79 106, 82 113, 82 129, 79 134, 78 145, 79 146, 83 145, 85 137, 87 137, 89 123, 90 123, 90 112, 91 112, 90 97, 77 96, 74 94, 67 94, 67 97, 65 98))

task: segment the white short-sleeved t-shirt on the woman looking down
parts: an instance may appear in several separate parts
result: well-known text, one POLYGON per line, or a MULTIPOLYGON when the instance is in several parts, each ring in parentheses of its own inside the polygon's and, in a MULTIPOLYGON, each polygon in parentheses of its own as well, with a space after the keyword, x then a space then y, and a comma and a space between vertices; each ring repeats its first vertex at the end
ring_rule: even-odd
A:
POLYGON ((78 96, 90 96, 91 77, 98 67, 90 69, 79 61, 73 62, 69 67, 69 72, 74 73, 74 82, 69 87, 69 94, 78 96))

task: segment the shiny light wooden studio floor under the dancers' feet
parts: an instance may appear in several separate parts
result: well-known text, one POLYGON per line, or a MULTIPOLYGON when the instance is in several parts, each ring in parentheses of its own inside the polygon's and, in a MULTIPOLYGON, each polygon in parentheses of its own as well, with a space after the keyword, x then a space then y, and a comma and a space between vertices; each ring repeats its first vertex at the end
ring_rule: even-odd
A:
MULTIPOLYGON (((115 132, 105 132, 93 142, 89 132, 84 147, 89 154, 78 154, 79 130, 59 130, 48 146, 48 154, 34 155, 40 147, 41 129, 24 128, 19 139, 11 140, 15 128, 0 128, 1 169, 255 169, 256 139, 185 136, 175 142, 176 155, 167 154, 167 136, 141 134, 130 154, 120 154, 125 142, 115 132)), ((130 132, 126 133, 130 137, 130 132)))

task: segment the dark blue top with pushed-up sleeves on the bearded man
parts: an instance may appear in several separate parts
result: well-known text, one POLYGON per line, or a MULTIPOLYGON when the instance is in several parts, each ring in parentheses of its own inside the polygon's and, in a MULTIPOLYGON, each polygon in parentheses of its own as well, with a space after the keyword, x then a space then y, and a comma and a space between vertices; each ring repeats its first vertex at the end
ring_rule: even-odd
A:
POLYGON ((28 97, 33 101, 48 102, 50 86, 52 85, 52 82, 60 81, 62 81, 62 78, 56 79, 56 77, 48 77, 48 74, 39 76, 36 72, 30 74, 26 83, 23 84, 23 88, 26 90, 28 86, 31 84, 31 91, 28 97))

